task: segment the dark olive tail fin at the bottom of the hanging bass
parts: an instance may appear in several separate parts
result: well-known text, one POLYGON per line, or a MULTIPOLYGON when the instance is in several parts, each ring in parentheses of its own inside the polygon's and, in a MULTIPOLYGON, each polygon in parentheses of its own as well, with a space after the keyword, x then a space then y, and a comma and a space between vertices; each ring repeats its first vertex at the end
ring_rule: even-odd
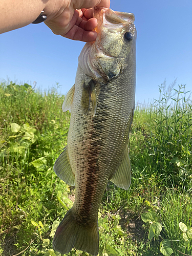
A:
POLYGON ((93 223, 93 226, 79 224, 73 218, 70 209, 56 230, 53 248, 62 254, 67 254, 73 247, 97 255, 99 251, 99 232, 98 221, 93 223))

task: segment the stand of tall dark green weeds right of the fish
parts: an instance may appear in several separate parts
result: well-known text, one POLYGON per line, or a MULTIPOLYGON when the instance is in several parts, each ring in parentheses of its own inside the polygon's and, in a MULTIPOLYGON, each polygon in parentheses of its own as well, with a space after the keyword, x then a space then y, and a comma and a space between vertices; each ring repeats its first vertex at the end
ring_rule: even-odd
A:
POLYGON ((192 178, 192 103, 185 86, 174 86, 166 89, 164 82, 158 100, 136 109, 130 155, 134 173, 146 166, 146 177, 155 174, 161 184, 187 190, 192 178))

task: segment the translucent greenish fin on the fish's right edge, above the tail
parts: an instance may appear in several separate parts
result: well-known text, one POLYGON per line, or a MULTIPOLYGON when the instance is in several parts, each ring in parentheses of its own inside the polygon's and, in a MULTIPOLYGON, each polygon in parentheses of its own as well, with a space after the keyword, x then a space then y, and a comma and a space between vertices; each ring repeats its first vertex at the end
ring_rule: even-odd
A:
POLYGON ((125 151, 124 157, 118 167, 116 173, 110 179, 116 186, 128 189, 131 185, 131 164, 128 154, 128 148, 125 151))

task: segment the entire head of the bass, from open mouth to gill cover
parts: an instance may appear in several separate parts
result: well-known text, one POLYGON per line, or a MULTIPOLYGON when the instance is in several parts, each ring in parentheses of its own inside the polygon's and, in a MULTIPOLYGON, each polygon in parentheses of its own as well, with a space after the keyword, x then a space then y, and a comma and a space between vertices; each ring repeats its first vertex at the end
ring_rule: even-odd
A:
POLYGON ((109 81, 118 77, 136 55, 136 28, 133 13, 95 7, 98 20, 96 41, 87 43, 79 56, 80 66, 96 80, 109 81))

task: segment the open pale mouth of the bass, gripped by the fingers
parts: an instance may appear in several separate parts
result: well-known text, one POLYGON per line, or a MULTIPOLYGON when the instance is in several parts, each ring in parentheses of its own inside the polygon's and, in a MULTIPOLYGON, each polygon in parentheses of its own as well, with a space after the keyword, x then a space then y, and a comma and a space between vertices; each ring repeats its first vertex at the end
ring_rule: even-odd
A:
POLYGON ((93 17, 97 19, 98 25, 95 28, 97 33, 100 32, 100 27, 105 23, 110 23, 112 26, 124 27, 127 23, 134 23, 135 15, 131 12, 118 12, 112 11, 112 9, 104 7, 94 7, 93 8, 93 17))

